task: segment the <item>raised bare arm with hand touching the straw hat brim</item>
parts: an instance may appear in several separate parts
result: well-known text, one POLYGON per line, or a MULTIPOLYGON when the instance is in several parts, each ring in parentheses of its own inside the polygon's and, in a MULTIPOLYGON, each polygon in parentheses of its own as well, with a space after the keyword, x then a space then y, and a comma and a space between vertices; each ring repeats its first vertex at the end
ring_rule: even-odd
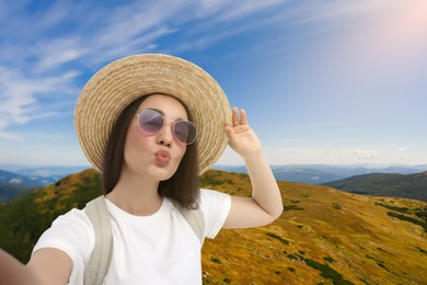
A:
POLYGON ((252 183, 252 197, 232 197, 226 228, 249 228, 270 224, 278 218, 284 205, 272 169, 264 158, 262 145, 247 125, 244 110, 232 111, 232 125, 226 126, 229 145, 245 161, 252 183))

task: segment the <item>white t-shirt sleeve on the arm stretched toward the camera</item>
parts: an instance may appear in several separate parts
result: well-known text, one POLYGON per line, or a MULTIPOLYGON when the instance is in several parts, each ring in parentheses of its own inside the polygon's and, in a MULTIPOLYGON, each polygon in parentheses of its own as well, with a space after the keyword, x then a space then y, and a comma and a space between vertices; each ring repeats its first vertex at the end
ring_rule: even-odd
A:
POLYGON ((71 209, 54 220, 38 239, 33 253, 43 248, 55 248, 67 253, 72 260, 70 283, 80 280, 95 243, 92 224, 84 210, 71 209), (78 276, 79 275, 79 276, 78 276))

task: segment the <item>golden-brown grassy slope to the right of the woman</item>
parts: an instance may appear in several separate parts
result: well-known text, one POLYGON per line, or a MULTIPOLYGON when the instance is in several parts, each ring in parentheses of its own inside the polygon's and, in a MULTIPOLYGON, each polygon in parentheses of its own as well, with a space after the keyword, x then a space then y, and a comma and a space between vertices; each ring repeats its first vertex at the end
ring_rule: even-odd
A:
MULTIPOLYGON (((205 182, 226 182, 208 187, 249 195, 246 176, 207 175, 205 182)), ((427 283, 427 224, 418 218, 425 217, 426 203, 300 183, 279 186, 285 212, 274 224, 222 230, 206 241, 206 281, 318 284, 330 276, 335 284, 427 283)))

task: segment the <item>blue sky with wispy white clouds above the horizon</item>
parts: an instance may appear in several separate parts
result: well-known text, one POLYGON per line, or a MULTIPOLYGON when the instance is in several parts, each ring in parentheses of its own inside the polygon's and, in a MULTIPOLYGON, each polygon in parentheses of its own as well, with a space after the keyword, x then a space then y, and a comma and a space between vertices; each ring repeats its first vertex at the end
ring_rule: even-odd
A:
POLYGON ((142 53, 209 72, 270 164, 427 163, 425 0, 0 0, 0 164, 89 166, 80 90, 142 53))

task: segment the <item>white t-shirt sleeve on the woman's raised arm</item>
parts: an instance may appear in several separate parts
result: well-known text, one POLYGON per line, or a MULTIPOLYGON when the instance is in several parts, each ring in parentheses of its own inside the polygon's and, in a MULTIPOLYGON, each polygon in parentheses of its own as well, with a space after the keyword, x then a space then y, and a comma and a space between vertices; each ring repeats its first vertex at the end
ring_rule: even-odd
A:
POLYGON ((205 237, 214 239, 222 228, 231 207, 231 196, 200 189, 200 208, 205 219, 205 237))

